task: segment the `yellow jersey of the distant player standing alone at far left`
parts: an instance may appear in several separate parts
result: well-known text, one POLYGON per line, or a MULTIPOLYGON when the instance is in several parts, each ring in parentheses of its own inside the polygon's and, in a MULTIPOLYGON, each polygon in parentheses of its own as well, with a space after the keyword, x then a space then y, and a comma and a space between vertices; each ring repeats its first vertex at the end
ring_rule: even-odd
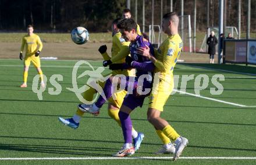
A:
POLYGON ((42 42, 40 40, 40 37, 37 34, 32 34, 31 36, 29 34, 24 35, 22 38, 22 46, 20 47, 20 52, 23 52, 25 47, 26 50, 26 56, 32 56, 37 51, 42 51, 42 42), (37 49, 37 47, 39 48, 37 49))

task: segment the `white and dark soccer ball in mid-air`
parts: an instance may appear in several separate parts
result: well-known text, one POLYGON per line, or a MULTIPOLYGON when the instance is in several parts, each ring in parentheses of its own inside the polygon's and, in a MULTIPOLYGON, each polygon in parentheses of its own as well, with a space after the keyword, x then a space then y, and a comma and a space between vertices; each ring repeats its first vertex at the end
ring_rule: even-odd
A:
POLYGON ((84 27, 76 27, 71 31, 71 38, 76 44, 85 44, 89 40, 89 33, 84 27))

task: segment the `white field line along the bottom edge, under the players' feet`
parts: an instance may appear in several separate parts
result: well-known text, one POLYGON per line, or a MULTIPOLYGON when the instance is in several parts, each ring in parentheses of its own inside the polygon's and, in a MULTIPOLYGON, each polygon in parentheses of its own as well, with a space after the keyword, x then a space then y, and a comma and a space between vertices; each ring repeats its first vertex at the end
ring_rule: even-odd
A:
MULTIPOLYGON (((172 157, 0 157, 0 160, 115 160, 115 159, 169 159, 172 157)), ((180 157, 179 159, 256 160, 256 157, 180 157)))

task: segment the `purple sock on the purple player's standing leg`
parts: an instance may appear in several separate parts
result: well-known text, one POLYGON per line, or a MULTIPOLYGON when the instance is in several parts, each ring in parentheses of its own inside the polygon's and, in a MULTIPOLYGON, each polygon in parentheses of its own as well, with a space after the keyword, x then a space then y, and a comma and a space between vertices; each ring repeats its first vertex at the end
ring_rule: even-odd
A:
POLYGON ((131 129, 133 128, 133 124, 131 123, 130 114, 119 111, 118 116, 122 124, 123 138, 125 139, 125 143, 132 144, 133 139, 131 138, 131 129))

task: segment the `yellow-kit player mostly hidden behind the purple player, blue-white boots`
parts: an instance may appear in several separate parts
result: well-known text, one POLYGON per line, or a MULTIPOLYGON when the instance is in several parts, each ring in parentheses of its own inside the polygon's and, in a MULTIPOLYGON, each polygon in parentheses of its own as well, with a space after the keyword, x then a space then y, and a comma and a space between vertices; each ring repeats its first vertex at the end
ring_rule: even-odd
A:
MULTIPOLYGON (((112 49, 111 49, 111 55, 112 57, 115 56, 120 56, 120 52, 122 50, 128 50, 128 51, 122 51, 121 53, 126 53, 125 56, 129 55, 130 51, 129 51, 129 45, 130 42, 126 42, 122 37, 121 37, 121 33, 119 32, 119 28, 117 27, 117 24, 119 23, 119 21, 122 19, 115 19, 112 23, 112 49)), ((99 47, 99 52, 101 53, 101 55, 103 56, 104 60, 109 60, 111 59, 111 57, 108 55, 108 53, 106 52, 106 45, 102 45, 99 47)), ((122 55, 123 56, 123 55, 122 55)), ((109 66, 111 69, 113 69, 113 67, 119 67, 119 64, 125 63, 125 58, 122 58, 120 60, 117 60, 115 63, 113 63, 111 66, 109 66)), ((117 74, 123 74, 125 76, 135 76, 135 70, 134 69, 130 69, 130 70, 113 70, 112 71, 112 75, 115 76, 117 74)), ((105 75, 104 77, 106 77, 107 75, 105 75)), ((99 82, 99 85, 101 85, 101 87, 104 87, 104 83, 99 82)), ((108 114, 109 116, 114 119, 119 126, 121 126, 120 123, 120 119, 118 116, 118 112, 119 109, 123 103, 123 99, 125 98, 126 95, 126 91, 120 91, 120 92, 116 92, 115 93, 115 98, 109 98, 108 99, 108 114)), ((86 99, 86 101, 93 101, 93 97, 94 94, 97 94, 97 91, 94 88, 90 88, 87 91, 84 92, 84 99, 86 99)), ((80 109, 77 109, 76 114, 74 114, 74 116, 70 119, 63 119, 62 117, 59 117, 59 121, 61 121, 63 124, 71 127, 71 128, 78 128, 79 127, 79 123, 81 120, 81 117, 83 116, 85 112, 83 112, 80 109)), ((133 143, 135 146, 135 150, 138 150, 138 148, 140 148, 140 144, 143 141, 144 138, 144 134, 142 132, 137 132, 136 130, 132 130, 132 137, 133 137, 133 143)))

